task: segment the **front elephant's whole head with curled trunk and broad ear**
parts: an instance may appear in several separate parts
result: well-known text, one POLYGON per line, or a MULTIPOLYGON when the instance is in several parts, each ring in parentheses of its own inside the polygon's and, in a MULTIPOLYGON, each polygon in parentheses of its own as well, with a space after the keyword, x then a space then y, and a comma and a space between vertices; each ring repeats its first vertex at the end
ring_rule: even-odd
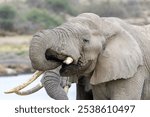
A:
POLYGON ((29 56, 34 69, 61 76, 90 76, 90 84, 132 77, 143 57, 137 41, 119 19, 83 13, 54 29, 36 33, 29 56))

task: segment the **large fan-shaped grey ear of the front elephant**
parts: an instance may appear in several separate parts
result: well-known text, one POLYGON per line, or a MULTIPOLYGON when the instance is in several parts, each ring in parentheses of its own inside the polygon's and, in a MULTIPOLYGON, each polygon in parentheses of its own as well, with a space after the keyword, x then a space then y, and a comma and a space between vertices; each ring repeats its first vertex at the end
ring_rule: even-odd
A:
POLYGON ((142 64, 143 56, 138 43, 127 31, 120 31, 106 40, 90 83, 95 85, 131 78, 142 64))

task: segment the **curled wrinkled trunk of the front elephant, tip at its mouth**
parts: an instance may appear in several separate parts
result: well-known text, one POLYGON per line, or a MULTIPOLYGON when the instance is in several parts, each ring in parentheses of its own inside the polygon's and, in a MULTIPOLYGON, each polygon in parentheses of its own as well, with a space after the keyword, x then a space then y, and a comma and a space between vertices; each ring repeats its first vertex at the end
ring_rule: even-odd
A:
POLYGON ((49 30, 38 32, 31 40, 29 57, 33 68, 36 70, 46 71, 54 69, 61 64, 60 62, 48 61, 46 58, 47 50, 52 47, 52 41, 48 39, 48 36, 53 38, 53 35, 50 33, 49 30))

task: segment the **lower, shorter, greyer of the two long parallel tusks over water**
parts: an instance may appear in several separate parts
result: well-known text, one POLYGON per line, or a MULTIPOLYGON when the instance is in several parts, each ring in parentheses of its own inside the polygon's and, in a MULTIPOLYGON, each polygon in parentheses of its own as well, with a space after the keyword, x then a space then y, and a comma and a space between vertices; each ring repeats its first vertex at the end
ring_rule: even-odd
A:
POLYGON ((14 93, 16 93, 17 95, 24 96, 24 95, 29 95, 29 94, 35 93, 35 92, 39 91, 41 88, 43 88, 43 85, 41 83, 39 83, 35 87, 33 87, 29 90, 17 91, 17 92, 14 92, 14 93))

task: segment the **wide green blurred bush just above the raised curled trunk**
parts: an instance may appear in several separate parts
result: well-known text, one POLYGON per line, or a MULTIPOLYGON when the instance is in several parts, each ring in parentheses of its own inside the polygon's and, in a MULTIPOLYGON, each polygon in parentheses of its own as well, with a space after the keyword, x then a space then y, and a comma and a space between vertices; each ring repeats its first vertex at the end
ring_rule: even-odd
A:
POLYGON ((55 27, 60 25, 63 20, 56 17, 55 15, 50 15, 46 10, 32 9, 27 14, 27 20, 33 24, 39 25, 42 28, 55 27))

